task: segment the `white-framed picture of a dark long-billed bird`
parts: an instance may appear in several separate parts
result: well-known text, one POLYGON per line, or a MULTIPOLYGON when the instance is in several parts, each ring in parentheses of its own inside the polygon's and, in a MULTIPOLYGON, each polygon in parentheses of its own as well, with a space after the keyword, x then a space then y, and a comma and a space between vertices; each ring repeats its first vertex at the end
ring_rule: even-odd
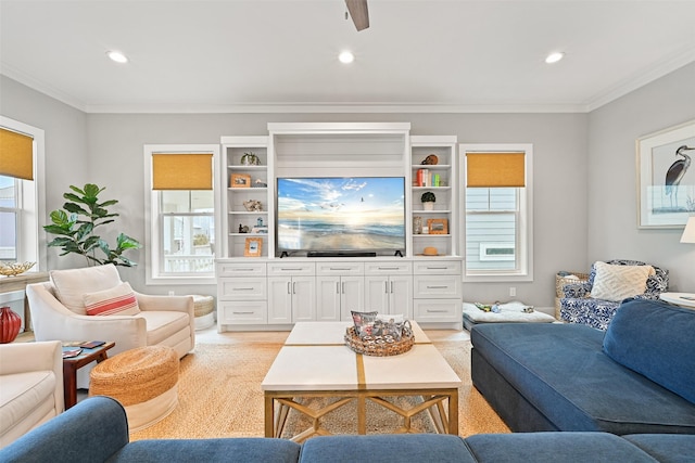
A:
POLYGON ((637 226, 678 229, 695 215, 695 120, 637 139, 637 226))

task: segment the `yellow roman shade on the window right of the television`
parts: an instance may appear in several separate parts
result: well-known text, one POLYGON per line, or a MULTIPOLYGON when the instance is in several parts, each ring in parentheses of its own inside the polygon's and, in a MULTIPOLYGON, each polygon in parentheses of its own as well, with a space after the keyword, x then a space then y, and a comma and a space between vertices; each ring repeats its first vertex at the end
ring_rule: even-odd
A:
POLYGON ((525 153, 466 153, 466 187, 518 188, 526 185, 525 153))

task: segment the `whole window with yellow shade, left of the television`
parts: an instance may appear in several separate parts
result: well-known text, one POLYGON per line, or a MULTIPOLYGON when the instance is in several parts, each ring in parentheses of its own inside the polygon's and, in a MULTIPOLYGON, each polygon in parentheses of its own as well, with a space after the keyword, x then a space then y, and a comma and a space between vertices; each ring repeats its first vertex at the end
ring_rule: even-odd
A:
POLYGON ((218 145, 144 146, 148 284, 215 282, 218 153, 218 145))

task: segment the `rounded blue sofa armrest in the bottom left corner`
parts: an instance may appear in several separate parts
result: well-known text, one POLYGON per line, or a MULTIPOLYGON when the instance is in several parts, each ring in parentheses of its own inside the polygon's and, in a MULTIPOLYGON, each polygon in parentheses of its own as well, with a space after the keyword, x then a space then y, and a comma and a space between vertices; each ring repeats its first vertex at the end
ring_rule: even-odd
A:
POLYGON ((105 462, 128 443, 121 403, 91 397, 0 449, 3 462, 105 462))

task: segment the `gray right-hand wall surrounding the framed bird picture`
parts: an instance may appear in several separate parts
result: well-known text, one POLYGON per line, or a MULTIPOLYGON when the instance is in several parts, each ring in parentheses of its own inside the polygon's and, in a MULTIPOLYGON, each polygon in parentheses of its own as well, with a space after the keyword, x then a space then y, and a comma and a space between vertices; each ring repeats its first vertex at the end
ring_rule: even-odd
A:
MULTIPOLYGON (((695 63, 589 116, 586 263, 629 258, 670 271, 670 290, 695 292, 695 245, 682 229, 637 229, 635 140, 695 119, 695 63)), ((695 169, 695 166, 691 166, 695 169)))

